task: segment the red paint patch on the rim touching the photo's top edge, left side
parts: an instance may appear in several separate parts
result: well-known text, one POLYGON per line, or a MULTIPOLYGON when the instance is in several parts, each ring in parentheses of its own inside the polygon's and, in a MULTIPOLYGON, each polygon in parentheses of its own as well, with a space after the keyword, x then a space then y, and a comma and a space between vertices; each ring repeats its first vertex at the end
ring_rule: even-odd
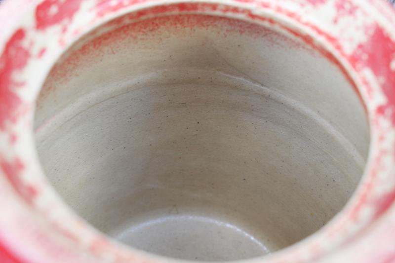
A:
POLYGON ((45 0, 36 8, 36 28, 44 30, 50 26, 70 21, 79 10, 83 0, 45 0))

